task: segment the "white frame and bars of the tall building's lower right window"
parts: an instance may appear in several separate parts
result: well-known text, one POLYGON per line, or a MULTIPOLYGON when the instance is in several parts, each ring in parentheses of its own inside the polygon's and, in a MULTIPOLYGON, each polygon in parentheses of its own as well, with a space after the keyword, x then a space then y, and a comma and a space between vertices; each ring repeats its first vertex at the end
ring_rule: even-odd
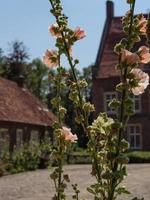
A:
POLYGON ((141 150, 142 149, 142 126, 141 124, 128 124, 127 125, 127 134, 128 134, 128 141, 130 143, 131 150, 141 150), (139 133, 136 133, 136 126, 139 127, 139 133), (134 133, 130 132, 130 128, 134 127, 134 133), (131 136, 134 136, 134 146, 131 146, 131 136), (140 136, 140 144, 137 146, 136 144, 136 136, 140 136))

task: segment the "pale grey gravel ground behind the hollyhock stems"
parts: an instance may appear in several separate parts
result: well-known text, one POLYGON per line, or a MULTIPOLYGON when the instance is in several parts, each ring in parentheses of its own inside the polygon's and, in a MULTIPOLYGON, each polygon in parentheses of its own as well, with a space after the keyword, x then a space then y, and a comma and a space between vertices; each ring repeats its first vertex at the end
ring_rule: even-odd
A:
MULTIPOLYGON (((89 176, 90 165, 70 165, 65 167, 73 183, 80 185, 81 197, 92 200, 86 187, 94 182, 89 176)), ((150 200, 150 164, 128 166, 129 175, 124 184, 134 193, 150 200)), ((49 179, 50 171, 37 170, 33 172, 9 175, 0 178, 0 200, 51 200, 54 193, 53 183, 49 179)), ((68 200, 72 189, 68 189, 68 200)), ((120 200, 130 199, 121 197, 120 200)))

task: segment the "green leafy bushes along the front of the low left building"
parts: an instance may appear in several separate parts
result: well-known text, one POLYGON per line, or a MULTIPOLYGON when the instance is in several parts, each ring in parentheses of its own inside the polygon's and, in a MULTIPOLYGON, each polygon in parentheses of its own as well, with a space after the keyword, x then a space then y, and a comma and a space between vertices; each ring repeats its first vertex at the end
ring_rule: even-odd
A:
POLYGON ((18 173, 48 167, 51 153, 52 146, 48 138, 40 144, 34 141, 25 143, 11 155, 9 149, 5 148, 1 156, 0 170, 3 173, 18 173))

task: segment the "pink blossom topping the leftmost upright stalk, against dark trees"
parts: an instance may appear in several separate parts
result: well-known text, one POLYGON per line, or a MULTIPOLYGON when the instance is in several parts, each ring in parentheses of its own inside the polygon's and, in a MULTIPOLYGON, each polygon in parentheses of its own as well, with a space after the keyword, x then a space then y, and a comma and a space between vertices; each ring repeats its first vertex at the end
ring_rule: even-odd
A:
POLYGON ((47 49, 43 56, 43 62, 49 68, 58 66, 58 53, 54 50, 47 49))

